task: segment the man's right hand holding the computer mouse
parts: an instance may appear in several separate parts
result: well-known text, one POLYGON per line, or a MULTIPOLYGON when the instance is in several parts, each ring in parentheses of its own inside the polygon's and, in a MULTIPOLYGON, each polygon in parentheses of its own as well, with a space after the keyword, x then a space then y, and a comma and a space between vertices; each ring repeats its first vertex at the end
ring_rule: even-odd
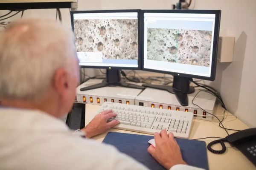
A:
POLYGON ((173 133, 167 135, 166 130, 159 133, 154 133, 156 147, 150 145, 148 152, 156 159, 163 167, 169 170, 176 164, 186 164, 183 161, 180 147, 174 139, 173 133))

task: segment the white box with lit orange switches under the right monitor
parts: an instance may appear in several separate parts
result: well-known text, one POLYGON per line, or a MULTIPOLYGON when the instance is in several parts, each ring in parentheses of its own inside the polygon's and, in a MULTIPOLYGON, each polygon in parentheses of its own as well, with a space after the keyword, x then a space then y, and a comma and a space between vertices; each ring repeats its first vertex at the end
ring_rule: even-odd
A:
POLYGON ((204 112, 192 104, 192 99, 195 97, 198 91, 199 90, 195 90, 195 93, 188 94, 188 106, 181 106, 180 103, 177 101, 175 94, 153 88, 146 88, 140 95, 135 98, 135 105, 191 112, 197 115, 202 115, 194 115, 194 119, 212 121, 212 117, 207 116, 209 115, 207 114, 207 112, 211 114, 215 113, 215 109, 217 108, 216 105, 218 104, 216 97, 212 96, 211 94, 202 92, 194 99, 195 104, 199 105, 201 108, 207 111, 204 112))

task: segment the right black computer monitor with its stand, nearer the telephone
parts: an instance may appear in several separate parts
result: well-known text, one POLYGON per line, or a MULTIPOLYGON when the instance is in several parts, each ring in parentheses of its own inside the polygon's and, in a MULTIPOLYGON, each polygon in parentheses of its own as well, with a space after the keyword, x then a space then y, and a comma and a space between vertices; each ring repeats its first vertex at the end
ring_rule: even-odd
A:
POLYGON ((214 80, 221 11, 142 11, 142 69, 174 76, 173 85, 143 85, 174 93, 188 105, 192 78, 214 80))

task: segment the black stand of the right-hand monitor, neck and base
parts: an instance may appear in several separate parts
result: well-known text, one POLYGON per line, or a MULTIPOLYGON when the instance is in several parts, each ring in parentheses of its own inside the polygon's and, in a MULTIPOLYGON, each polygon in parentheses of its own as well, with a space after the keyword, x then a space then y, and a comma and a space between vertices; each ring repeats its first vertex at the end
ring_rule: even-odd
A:
POLYGON ((195 92, 195 88, 189 86, 189 78, 174 76, 172 86, 169 85, 148 85, 143 84, 144 87, 155 88, 159 90, 166 90, 172 94, 175 94, 177 100, 180 102, 180 105, 188 105, 188 95, 195 92))

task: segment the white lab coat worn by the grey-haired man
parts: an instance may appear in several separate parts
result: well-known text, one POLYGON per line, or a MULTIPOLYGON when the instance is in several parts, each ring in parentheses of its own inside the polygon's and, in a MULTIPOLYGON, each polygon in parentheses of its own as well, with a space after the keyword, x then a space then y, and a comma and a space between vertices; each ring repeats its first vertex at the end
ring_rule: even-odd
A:
MULTIPOLYGON (((171 170, 199 170, 176 165, 171 170)), ((0 170, 147 170, 115 147, 35 110, 0 108, 0 170)))

